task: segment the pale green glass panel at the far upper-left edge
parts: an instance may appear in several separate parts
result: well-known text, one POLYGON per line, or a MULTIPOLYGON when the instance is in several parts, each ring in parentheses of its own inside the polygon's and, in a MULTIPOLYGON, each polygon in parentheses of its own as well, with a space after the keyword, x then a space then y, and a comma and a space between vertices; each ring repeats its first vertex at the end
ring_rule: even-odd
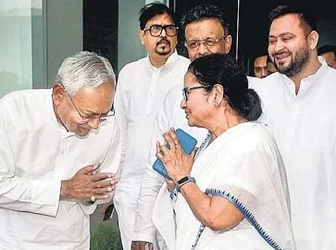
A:
POLYGON ((0 97, 32 87, 31 8, 30 1, 0 5, 0 97))

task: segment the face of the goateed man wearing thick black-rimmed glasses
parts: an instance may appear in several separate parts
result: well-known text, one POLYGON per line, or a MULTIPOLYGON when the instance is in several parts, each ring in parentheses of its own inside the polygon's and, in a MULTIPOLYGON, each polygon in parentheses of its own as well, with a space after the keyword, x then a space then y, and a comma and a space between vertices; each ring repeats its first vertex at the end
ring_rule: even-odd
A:
MULTIPOLYGON (((171 25, 174 24, 172 17, 167 13, 162 15, 155 15, 153 18, 148 20, 145 25, 145 29, 151 27, 152 25, 171 25)), ((175 50, 177 43, 177 36, 167 36, 165 29, 162 30, 160 36, 151 36, 149 30, 139 31, 139 38, 141 43, 146 47, 150 57, 169 57, 175 50)))

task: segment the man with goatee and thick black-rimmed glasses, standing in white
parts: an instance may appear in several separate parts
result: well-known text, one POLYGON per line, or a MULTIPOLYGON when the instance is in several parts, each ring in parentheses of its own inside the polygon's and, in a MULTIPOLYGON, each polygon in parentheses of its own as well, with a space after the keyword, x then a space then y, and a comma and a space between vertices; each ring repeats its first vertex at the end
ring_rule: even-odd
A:
POLYGON ((139 38, 148 55, 120 71, 115 105, 125 145, 114 198, 123 249, 131 249, 137 198, 158 110, 169 89, 183 84, 190 63, 175 50, 178 29, 171 9, 150 3, 141 9, 139 21, 139 38))

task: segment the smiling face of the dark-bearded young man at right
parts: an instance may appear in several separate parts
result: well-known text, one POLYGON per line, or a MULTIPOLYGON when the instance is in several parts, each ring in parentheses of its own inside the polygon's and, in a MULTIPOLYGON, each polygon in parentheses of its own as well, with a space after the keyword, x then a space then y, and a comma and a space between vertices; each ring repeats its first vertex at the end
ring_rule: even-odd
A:
POLYGON ((311 57, 309 32, 296 14, 283 15, 272 22, 268 52, 280 73, 291 77, 307 66, 311 57))

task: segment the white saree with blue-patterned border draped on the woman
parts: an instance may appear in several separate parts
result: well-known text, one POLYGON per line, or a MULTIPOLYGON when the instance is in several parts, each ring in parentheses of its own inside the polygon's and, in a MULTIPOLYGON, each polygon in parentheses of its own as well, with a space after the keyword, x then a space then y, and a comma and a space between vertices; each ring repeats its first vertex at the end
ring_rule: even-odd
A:
MULTIPOLYGON (((217 189, 230 193, 225 198, 237 199, 239 202, 230 202, 241 205, 246 212, 245 219, 235 228, 221 232, 205 228, 195 249, 272 249, 247 219, 254 221, 274 246, 295 249, 286 172, 275 140, 265 125, 246 122, 225 131, 197 157, 190 175, 195 177, 201 191, 217 189)), ((154 207, 155 226, 169 249, 190 249, 200 221, 179 193, 173 205, 174 230, 174 219, 168 216, 173 215, 168 197, 164 184, 154 207)))

